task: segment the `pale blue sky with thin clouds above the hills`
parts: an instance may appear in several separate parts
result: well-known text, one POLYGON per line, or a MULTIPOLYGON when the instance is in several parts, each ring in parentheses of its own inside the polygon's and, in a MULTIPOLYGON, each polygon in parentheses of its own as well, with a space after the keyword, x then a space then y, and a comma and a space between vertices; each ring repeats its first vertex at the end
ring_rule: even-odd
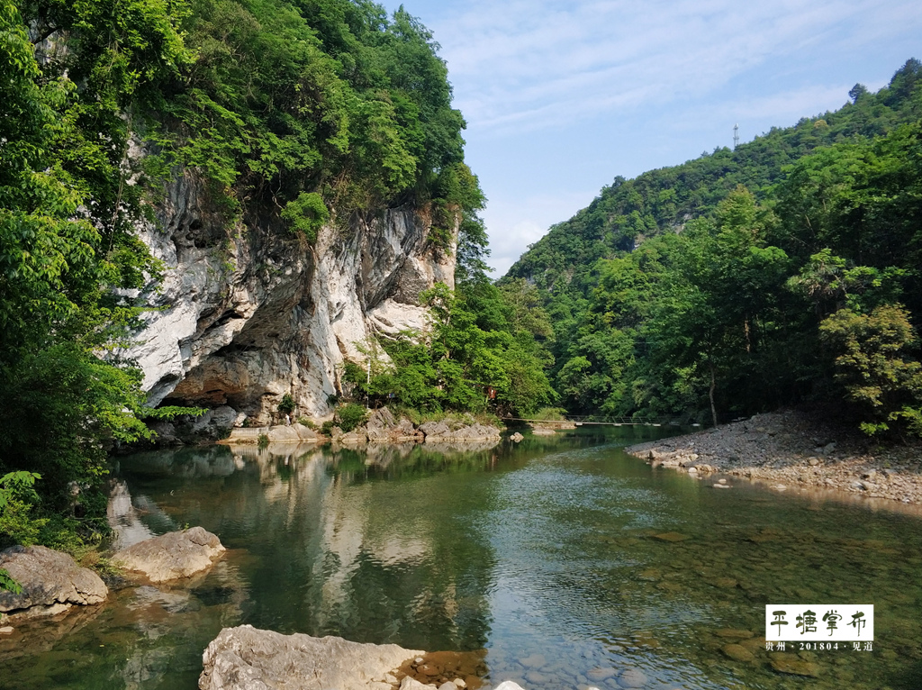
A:
POLYGON ((497 275, 616 175, 834 110, 922 59, 918 0, 403 5, 442 46, 497 275))

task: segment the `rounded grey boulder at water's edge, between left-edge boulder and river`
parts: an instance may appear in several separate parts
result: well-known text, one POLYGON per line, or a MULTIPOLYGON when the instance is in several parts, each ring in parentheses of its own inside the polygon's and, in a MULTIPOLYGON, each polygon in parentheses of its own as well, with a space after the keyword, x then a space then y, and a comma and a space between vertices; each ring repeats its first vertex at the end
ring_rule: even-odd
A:
POLYGON ((218 537, 204 528, 193 527, 138 541, 116 552, 112 561, 151 582, 167 582, 207 570, 224 551, 218 537))

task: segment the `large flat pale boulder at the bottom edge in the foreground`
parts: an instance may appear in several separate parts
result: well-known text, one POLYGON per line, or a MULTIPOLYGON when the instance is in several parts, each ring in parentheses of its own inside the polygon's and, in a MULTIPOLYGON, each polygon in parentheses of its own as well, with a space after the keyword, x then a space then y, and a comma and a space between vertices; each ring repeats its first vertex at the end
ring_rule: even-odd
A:
POLYGON ((224 628, 202 655, 200 690, 393 690, 392 674, 423 654, 342 637, 281 635, 252 625, 224 628))

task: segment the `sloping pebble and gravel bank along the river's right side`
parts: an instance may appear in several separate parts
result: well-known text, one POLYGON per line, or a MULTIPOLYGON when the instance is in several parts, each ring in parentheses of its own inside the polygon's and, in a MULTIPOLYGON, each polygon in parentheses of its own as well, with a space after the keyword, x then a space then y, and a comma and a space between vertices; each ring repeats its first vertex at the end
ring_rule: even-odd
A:
POLYGON ((786 491, 817 487, 922 505, 922 444, 874 439, 798 410, 759 414, 715 429, 628 446, 654 466, 731 487, 732 477, 786 491), (727 475, 715 482, 710 475, 727 475))

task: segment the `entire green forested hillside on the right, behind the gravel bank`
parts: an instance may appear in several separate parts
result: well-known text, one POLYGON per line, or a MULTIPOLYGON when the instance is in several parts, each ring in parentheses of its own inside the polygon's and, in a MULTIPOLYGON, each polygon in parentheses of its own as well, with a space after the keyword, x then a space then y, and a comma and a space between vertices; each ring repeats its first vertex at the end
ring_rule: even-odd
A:
POLYGON ((525 280, 572 412, 725 422, 822 405, 922 433, 922 65, 834 113, 616 178, 525 280))

